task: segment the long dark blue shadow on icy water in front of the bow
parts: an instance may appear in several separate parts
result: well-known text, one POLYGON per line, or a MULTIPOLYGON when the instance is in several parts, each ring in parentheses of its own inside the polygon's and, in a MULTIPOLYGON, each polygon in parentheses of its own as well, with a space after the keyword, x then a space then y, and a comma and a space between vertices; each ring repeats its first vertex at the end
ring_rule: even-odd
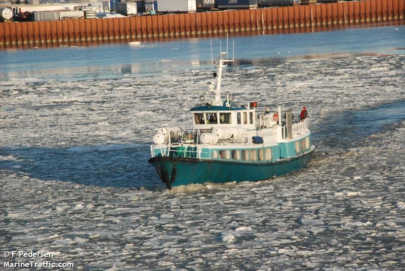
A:
POLYGON ((117 144, 47 148, 14 146, 0 148, 0 170, 30 178, 96 185, 159 189, 161 181, 147 164, 149 146, 117 144))

